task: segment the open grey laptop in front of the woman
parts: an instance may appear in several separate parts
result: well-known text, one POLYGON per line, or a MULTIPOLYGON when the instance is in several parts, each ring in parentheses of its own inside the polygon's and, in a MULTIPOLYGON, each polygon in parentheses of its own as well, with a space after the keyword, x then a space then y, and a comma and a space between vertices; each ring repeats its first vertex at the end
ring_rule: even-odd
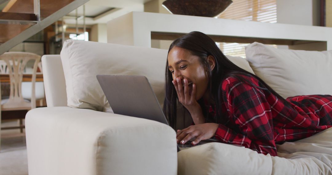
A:
MULTIPOLYGON (((145 76, 97 75, 97 80, 115 114, 155 120, 169 125, 145 76)), ((178 151, 205 143, 220 142, 207 139, 192 145, 192 141, 178 144, 178 151)))

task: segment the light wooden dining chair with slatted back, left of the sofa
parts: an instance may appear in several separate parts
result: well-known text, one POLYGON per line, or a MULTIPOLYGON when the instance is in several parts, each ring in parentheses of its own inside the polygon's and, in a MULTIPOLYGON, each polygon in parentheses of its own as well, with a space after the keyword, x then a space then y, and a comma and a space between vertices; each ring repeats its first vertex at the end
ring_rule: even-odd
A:
MULTIPOLYGON (((37 72, 38 63, 41 60, 41 56, 29 52, 6 52, 0 55, 0 60, 3 60, 6 63, 4 71, 5 72, 8 71, 10 78, 9 98, 1 100, 2 103, 0 108, 0 126, 1 126, 1 110, 13 111, 13 110, 30 110, 36 108, 36 98, 35 98, 36 72, 37 72), (24 69, 29 60, 35 60, 32 71, 32 81, 31 81, 32 83, 31 101, 23 99, 22 89, 21 89, 24 69)), ((16 128, 17 129, 20 128, 21 132, 23 131, 24 125, 22 119, 20 119, 19 127, 9 127, 3 129, 16 129, 16 128)), ((0 129, 0 134, 1 134, 1 129, 0 129)), ((1 138, 0 138, 0 144, 1 144, 1 138)))

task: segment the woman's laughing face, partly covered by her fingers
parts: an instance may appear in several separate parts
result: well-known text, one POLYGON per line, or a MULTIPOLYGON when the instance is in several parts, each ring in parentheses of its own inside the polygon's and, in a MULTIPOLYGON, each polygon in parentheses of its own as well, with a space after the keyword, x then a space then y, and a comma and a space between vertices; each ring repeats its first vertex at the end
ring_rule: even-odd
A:
POLYGON ((174 46, 168 53, 168 69, 172 73, 173 80, 187 79, 189 83, 189 94, 191 95, 193 84, 196 84, 196 100, 203 97, 207 91, 207 72, 200 62, 198 56, 192 55, 189 50, 174 46))

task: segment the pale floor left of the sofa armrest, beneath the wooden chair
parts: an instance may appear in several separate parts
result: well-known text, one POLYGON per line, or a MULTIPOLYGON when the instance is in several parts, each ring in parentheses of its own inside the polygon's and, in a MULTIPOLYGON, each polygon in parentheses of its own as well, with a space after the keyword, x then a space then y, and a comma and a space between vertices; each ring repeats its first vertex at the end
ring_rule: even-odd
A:
MULTIPOLYGON (((17 126, 17 121, 2 121, 1 126, 17 126)), ((25 133, 20 133, 19 129, 1 130, 0 175, 27 174, 28 158, 25 133)))

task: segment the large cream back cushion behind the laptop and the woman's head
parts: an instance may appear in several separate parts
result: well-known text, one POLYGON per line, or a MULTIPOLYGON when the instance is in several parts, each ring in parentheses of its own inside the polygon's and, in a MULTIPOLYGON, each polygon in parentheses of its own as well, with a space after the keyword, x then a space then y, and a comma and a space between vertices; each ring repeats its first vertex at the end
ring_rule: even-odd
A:
MULTIPOLYGON (((91 41, 66 40, 61 50, 70 107, 112 112, 96 75, 143 75, 159 103, 164 101, 167 50, 91 41)), ((246 59, 228 58, 253 72, 246 59)))

